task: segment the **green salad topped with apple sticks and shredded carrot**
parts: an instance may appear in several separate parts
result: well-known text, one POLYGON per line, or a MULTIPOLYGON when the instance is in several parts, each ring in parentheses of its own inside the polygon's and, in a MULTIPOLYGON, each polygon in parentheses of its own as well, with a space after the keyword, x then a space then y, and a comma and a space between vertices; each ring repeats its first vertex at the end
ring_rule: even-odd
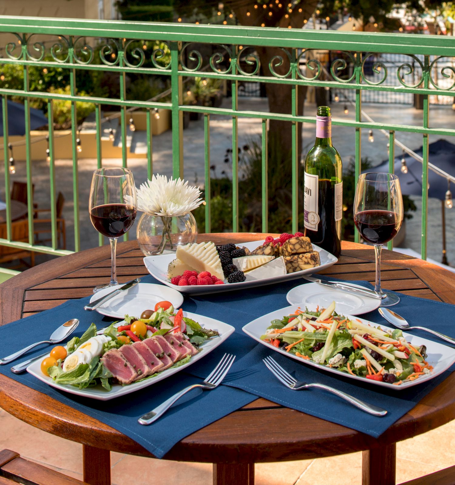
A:
POLYGON ((339 315, 335 302, 273 320, 261 339, 302 359, 396 386, 433 370, 424 345, 414 347, 399 329, 339 315))

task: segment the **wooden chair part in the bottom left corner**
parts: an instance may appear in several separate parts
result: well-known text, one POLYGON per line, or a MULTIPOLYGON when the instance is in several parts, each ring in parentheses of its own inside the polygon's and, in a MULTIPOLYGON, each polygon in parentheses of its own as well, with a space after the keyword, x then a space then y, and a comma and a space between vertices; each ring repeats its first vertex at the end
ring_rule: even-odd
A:
POLYGON ((0 451, 0 485, 88 485, 59 471, 21 458, 11 450, 0 451))

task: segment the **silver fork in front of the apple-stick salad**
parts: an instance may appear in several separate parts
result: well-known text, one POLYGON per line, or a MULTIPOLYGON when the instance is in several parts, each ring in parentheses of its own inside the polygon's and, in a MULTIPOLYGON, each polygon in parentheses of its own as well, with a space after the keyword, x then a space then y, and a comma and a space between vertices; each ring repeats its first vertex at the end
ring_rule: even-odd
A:
POLYGON ((272 374, 282 383, 284 384, 287 388, 292 389, 293 391, 299 391, 301 389, 309 389, 309 388, 318 388, 318 389, 324 389, 326 391, 332 392, 333 394, 336 394, 337 396, 341 397, 341 399, 344 399, 348 403, 358 407, 362 411, 365 411, 366 413, 373 414, 373 416, 385 416, 387 414, 387 411, 385 409, 382 409, 378 406, 375 406, 374 404, 368 404, 365 403, 364 401, 360 401, 360 399, 357 399, 353 396, 350 396, 349 394, 346 394, 345 392, 341 392, 338 389, 331 388, 329 386, 325 386, 324 384, 307 384, 305 382, 297 381, 297 379, 294 379, 292 375, 285 371, 272 357, 265 357, 265 359, 262 359, 264 364, 267 366, 267 369, 272 372, 272 374))

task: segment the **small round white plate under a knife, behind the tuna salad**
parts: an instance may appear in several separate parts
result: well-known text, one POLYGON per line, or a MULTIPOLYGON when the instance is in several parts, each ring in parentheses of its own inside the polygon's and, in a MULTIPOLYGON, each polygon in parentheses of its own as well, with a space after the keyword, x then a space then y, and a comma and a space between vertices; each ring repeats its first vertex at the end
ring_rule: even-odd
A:
MULTIPOLYGON (((95 293, 90 298, 90 303, 110 293, 123 285, 111 286, 95 293)), ((178 288, 178 287, 176 287, 178 288)), ((163 285, 152 283, 138 283, 127 291, 121 291, 110 300, 95 309, 101 315, 107 317, 125 318, 125 315, 140 317, 144 310, 153 310, 158 302, 166 300, 171 302, 174 308, 179 308, 183 303, 183 295, 163 285)))

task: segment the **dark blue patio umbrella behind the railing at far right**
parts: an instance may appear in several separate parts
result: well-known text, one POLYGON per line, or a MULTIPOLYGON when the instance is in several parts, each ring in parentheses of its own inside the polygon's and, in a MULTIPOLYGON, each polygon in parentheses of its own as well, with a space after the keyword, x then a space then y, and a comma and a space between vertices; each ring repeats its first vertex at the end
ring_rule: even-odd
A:
MULTIPOLYGON (((414 150, 417 155, 422 156, 422 146, 414 150)), ((428 147, 428 161, 436 165, 444 172, 455 177, 455 145, 447 140, 438 140, 430 143, 428 147)), ((406 195, 422 195, 422 163, 412 158, 410 155, 400 155, 395 157, 395 174, 400 179, 401 191, 406 195), (406 160, 407 174, 401 171, 401 160, 406 160)), ((363 172, 389 172, 389 160, 385 160, 376 167, 369 168, 363 172)), ((428 171, 428 197, 444 200, 447 191, 447 179, 436 174, 432 170, 428 171)), ((455 192, 455 184, 451 182, 450 190, 455 192)))

